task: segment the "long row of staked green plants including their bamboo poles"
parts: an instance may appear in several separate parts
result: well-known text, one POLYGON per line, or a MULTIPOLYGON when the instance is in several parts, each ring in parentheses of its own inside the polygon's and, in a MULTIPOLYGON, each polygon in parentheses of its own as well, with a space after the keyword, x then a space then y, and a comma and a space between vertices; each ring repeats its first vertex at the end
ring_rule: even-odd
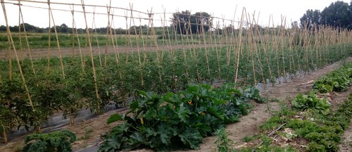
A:
MULTIPOLYGON (((314 32, 282 28, 265 35, 252 29, 245 34, 194 34, 191 37, 203 37, 201 46, 182 38, 177 43, 184 45, 168 50, 16 60, 9 56, 0 61, 0 129, 4 137, 16 127, 40 132, 58 111, 74 123, 78 110, 99 114, 108 104, 127 106, 127 99, 140 90, 161 94, 214 82, 266 87, 280 77, 351 56, 350 35, 329 27, 314 32)), ((11 47, 9 51, 15 53, 11 47)))

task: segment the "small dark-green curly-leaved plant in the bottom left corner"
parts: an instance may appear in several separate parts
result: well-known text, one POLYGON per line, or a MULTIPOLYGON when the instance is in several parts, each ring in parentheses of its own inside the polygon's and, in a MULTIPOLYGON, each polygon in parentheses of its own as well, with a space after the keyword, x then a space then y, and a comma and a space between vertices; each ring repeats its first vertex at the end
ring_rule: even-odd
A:
POLYGON ((62 130, 49 134, 32 134, 25 137, 24 152, 70 152, 73 151, 71 143, 76 141, 73 132, 62 130))

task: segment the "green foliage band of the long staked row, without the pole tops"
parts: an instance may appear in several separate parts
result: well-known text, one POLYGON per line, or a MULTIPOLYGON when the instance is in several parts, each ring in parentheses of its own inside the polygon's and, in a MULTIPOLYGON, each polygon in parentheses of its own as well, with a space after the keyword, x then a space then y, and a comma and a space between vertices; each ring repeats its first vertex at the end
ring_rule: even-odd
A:
MULTIPOLYGON (((243 47, 250 49, 248 45, 243 47)), ((290 58, 284 64, 277 64, 281 59, 274 49, 256 54, 241 51, 235 56, 227 46, 121 53, 94 56, 93 60, 78 56, 28 58, 20 61, 20 65, 13 60, 0 61, 0 131, 6 134, 9 129, 24 126, 40 132, 40 126, 56 111, 62 111, 63 118, 70 118, 74 123, 78 110, 89 108, 92 113, 103 113, 111 103, 127 106, 127 99, 134 99, 139 90, 163 94, 183 90, 191 83, 275 82, 278 77, 339 61, 348 56, 351 45, 332 45, 325 49, 321 53, 329 58, 314 56, 313 50, 307 51, 301 46, 282 51, 284 58, 290 58), (284 75, 284 69, 290 73, 284 75)))

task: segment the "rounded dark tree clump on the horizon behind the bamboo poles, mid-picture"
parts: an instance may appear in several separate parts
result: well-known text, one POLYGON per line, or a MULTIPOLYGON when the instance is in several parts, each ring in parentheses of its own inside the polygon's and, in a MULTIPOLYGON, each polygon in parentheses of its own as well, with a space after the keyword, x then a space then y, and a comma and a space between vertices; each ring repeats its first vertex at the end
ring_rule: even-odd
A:
POLYGON ((190 11, 177 12, 172 14, 171 26, 179 34, 207 32, 211 26, 211 17, 205 12, 197 12, 192 15, 190 11))

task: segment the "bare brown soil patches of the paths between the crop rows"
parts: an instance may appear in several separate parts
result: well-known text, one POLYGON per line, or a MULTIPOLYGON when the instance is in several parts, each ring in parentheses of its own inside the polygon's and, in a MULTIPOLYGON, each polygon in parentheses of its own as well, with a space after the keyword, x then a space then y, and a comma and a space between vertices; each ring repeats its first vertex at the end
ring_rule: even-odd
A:
MULTIPOLYGON (((346 61, 351 62, 352 58, 347 58, 346 61)), ((327 75, 328 72, 335 70, 340 67, 342 62, 334 63, 332 65, 327 65, 325 68, 315 70, 306 75, 298 76, 292 80, 287 80, 287 82, 277 84, 275 87, 270 87, 267 90, 261 91, 262 96, 267 96, 269 99, 278 99, 279 101, 291 101, 298 93, 306 93, 309 91, 313 85, 313 81, 321 77, 322 75, 327 75)), ((346 94, 351 93, 351 89, 345 91, 341 94, 329 94, 329 98, 333 101, 332 104, 336 107, 341 101, 346 99, 346 94)), ((268 120, 272 115, 272 111, 279 110, 279 102, 270 102, 268 104, 253 103, 254 108, 251 110, 249 115, 245 115, 240 119, 240 122, 230 124, 226 127, 226 131, 230 132, 229 138, 235 141, 234 147, 243 146, 245 143, 242 141, 244 137, 253 136, 258 134, 259 126, 268 120)), ((61 129, 69 129, 75 132, 77 139, 73 147, 75 151, 84 151, 84 149, 89 147, 97 146, 101 143, 101 134, 108 132, 112 125, 106 125, 107 118, 116 111, 111 111, 109 113, 104 113, 91 120, 84 120, 82 122, 77 122, 75 125, 66 125, 61 129)), ((122 110, 120 113, 126 113, 127 110, 122 110)), ((352 148, 349 144, 352 143, 352 127, 344 135, 344 144, 341 145, 341 151, 346 149, 346 151, 351 151, 352 148)), ((15 151, 16 149, 23 146, 23 137, 18 137, 9 141, 7 146, 0 146, 1 152, 15 151)), ((207 137, 203 140, 201 148, 199 150, 192 151, 216 151, 216 146, 214 144, 215 137, 207 137)), ((141 149, 142 151, 151 151, 149 149, 141 149)))

